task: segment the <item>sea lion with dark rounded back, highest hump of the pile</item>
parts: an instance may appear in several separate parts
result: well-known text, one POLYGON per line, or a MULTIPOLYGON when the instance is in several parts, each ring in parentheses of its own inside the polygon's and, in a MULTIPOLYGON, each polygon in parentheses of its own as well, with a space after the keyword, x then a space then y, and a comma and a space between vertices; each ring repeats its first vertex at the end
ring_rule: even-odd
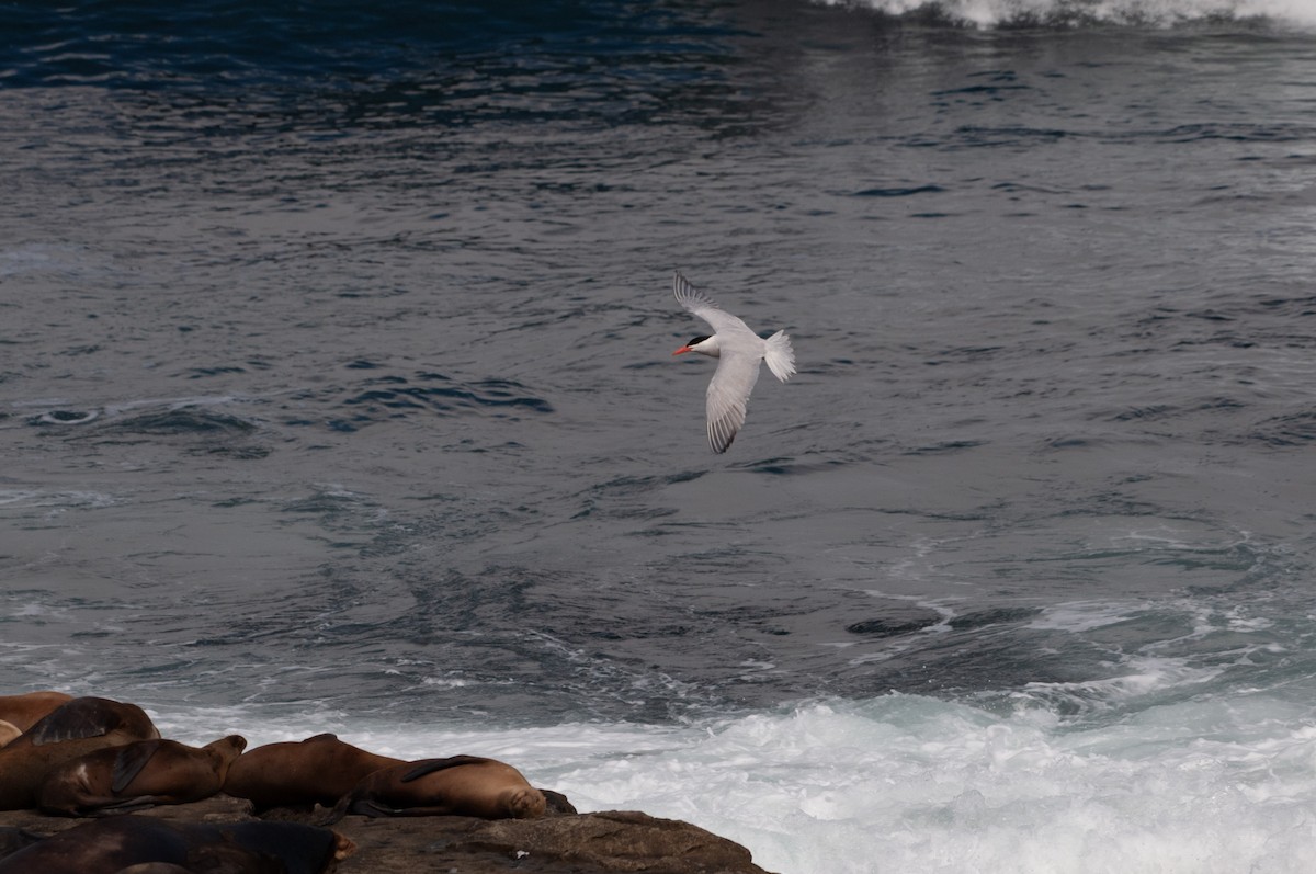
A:
POLYGON ((0 811, 34 807, 55 765, 107 746, 159 737, 141 707, 107 698, 75 698, 0 746, 0 811))

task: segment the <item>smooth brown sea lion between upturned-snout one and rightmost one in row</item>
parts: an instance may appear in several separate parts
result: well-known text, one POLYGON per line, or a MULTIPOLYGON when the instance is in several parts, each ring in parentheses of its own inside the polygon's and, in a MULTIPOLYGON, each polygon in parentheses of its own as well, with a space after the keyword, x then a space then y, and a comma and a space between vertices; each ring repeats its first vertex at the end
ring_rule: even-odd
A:
POLYGON ((338 740, 316 734, 304 741, 257 746, 238 757, 224 781, 224 791, 250 799, 257 811, 271 807, 332 807, 366 775, 404 759, 376 756, 338 740))

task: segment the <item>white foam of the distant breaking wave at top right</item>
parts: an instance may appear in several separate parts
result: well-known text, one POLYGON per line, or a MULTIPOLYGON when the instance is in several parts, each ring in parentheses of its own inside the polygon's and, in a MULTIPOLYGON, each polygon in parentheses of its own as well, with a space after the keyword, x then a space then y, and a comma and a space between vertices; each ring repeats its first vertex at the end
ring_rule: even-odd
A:
POLYGON ((892 16, 936 13, 978 28, 1020 22, 1137 24, 1167 26, 1192 21, 1270 18, 1316 26, 1311 0, 822 0, 867 7, 892 16))

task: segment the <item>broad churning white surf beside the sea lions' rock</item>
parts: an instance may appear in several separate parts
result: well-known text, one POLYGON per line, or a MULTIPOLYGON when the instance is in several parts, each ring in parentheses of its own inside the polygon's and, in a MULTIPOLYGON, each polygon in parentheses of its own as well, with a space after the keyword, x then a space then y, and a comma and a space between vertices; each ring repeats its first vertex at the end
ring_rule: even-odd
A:
POLYGON ((495 756, 582 811, 690 820, 783 874, 1286 873, 1316 853, 1316 713, 1258 696, 1082 729, 1046 709, 1001 716, 911 695, 687 727, 388 725, 259 708, 159 721, 196 742, 336 731, 400 757, 495 756))

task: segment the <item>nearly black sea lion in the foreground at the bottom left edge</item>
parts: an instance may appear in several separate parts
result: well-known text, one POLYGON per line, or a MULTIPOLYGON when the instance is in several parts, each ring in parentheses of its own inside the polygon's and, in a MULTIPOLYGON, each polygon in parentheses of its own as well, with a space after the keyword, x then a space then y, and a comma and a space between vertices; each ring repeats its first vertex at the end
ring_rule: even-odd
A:
POLYGON ((347 838, 300 823, 170 823, 112 816, 59 832, 0 860, 0 874, 157 871, 321 874, 355 849, 347 838))

